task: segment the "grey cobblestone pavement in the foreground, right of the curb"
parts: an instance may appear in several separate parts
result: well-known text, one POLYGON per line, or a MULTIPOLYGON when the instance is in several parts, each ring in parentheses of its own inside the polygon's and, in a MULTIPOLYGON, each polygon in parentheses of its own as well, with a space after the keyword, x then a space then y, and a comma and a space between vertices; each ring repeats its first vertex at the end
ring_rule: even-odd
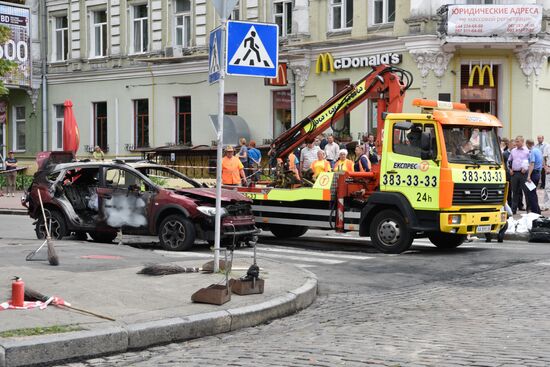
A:
POLYGON ((65 366, 550 366, 550 260, 320 296, 299 314, 65 366))

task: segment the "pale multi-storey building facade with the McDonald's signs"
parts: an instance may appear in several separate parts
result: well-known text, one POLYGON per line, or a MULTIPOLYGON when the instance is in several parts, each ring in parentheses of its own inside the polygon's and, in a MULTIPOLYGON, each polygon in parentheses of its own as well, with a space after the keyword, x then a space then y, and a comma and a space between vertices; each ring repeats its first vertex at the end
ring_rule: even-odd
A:
MULTIPOLYGON (((219 18, 211 1, 44 5, 48 149, 62 147, 65 99, 74 104, 80 155, 95 145, 109 156, 124 156, 216 139, 210 116, 217 113, 218 96, 217 86, 208 83, 208 36, 219 18)), ((227 77, 225 113, 244 121, 243 135, 267 143, 362 78, 369 64, 391 61, 414 76, 406 111, 414 111, 410 101, 416 97, 463 101, 497 115, 503 136, 550 137, 549 16, 550 0, 240 0, 232 19, 279 24, 286 84, 227 77), (537 6, 539 28, 524 35, 449 32, 449 6, 495 4, 537 6)), ((341 138, 373 131, 375 116, 371 103, 356 108, 342 122, 341 138)), ((28 133, 44 135, 38 130, 28 133)))

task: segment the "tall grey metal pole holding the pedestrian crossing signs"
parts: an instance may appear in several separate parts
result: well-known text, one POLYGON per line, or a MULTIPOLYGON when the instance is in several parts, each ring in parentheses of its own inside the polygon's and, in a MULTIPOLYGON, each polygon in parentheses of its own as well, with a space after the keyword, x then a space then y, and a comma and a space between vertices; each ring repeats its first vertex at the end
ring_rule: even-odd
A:
MULTIPOLYGON (((222 14, 225 14, 225 1, 222 14)), ((221 55, 220 79, 218 81, 218 149, 216 164, 216 224, 214 227, 214 272, 220 270, 220 234, 221 234, 221 204, 222 204, 222 149, 223 149, 223 100, 225 88, 225 16, 221 17, 221 55)))

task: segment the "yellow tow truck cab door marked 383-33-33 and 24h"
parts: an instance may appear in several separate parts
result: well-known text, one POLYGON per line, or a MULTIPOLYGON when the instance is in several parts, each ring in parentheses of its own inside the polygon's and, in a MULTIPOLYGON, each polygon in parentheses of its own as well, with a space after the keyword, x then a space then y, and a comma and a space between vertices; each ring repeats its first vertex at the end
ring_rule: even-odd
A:
POLYGON ((393 121, 381 176, 381 191, 403 194, 414 209, 439 209, 439 165, 434 158, 422 159, 422 133, 432 142, 431 157, 437 157, 436 126, 428 121, 393 121))

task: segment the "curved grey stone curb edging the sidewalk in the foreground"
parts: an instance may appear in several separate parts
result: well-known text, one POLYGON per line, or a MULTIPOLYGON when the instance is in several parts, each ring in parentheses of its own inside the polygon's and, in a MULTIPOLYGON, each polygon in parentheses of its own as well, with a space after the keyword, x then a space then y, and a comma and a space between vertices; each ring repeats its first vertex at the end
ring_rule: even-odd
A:
POLYGON ((25 339, 0 338, 0 367, 49 364, 123 353, 225 333, 288 316, 311 305, 317 296, 315 274, 305 269, 299 271, 306 275, 302 286, 251 306, 129 325, 104 323, 95 330, 25 339), (102 328, 102 325, 105 327, 102 328))

